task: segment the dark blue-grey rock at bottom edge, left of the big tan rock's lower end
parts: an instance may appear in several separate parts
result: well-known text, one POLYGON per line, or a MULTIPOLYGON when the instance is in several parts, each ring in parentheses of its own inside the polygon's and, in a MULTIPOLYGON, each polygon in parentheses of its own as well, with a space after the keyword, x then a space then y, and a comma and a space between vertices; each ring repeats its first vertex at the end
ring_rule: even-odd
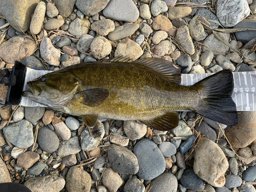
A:
POLYGON ((204 189, 204 181, 195 174, 193 168, 184 170, 180 182, 186 189, 195 191, 204 189))

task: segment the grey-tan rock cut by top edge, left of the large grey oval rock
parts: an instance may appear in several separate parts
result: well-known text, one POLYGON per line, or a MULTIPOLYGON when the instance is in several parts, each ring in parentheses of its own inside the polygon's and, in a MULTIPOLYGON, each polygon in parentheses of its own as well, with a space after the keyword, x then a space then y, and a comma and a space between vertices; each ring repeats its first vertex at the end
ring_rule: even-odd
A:
POLYGON ((95 15, 96 13, 103 10, 110 0, 76 0, 76 7, 87 16, 95 15))

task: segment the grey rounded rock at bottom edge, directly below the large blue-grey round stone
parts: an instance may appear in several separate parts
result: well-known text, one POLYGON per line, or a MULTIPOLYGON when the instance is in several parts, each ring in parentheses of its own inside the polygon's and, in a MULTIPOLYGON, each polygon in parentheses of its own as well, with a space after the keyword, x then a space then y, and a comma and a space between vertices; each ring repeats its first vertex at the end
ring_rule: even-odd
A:
POLYGON ((178 188, 178 181, 171 173, 163 173, 157 178, 153 179, 150 184, 151 192, 176 192, 178 188))

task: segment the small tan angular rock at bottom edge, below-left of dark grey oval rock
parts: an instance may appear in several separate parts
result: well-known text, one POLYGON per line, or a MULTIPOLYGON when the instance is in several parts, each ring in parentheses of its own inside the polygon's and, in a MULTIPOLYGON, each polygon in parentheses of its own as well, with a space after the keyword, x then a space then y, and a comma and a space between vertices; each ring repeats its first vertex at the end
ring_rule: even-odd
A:
POLYGON ((110 192, 116 192, 124 181, 112 168, 108 168, 102 174, 102 183, 110 192))

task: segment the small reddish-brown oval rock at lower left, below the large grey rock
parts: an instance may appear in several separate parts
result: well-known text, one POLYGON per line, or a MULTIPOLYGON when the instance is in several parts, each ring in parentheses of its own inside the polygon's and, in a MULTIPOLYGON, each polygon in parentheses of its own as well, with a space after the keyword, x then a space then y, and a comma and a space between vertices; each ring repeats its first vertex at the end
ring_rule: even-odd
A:
POLYGON ((39 158, 40 156, 36 152, 25 152, 18 157, 17 165, 23 168, 30 168, 39 158))

